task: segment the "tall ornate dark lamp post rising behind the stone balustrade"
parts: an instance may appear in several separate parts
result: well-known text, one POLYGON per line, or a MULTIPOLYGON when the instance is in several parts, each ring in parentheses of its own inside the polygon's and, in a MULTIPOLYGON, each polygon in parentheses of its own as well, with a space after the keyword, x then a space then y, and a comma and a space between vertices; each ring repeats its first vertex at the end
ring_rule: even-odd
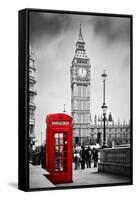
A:
POLYGON ((101 75, 101 77, 103 78, 103 105, 102 105, 102 110, 103 110, 103 146, 102 148, 106 148, 106 126, 105 126, 105 122, 106 122, 106 112, 107 112, 107 108, 108 106, 106 106, 105 103, 105 81, 106 81, 106 77, 107 74, 105 73, 105 70, 103 72, 103 74, 101 75))

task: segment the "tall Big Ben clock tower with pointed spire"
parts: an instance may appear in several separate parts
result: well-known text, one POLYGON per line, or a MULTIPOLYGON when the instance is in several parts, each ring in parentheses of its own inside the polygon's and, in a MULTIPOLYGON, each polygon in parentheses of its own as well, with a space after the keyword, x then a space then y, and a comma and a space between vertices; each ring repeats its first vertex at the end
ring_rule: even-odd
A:
POLYGON ((71 73, 71 114, 74 144, 87 144, 90 138, 90 71, 81 24, 71 73))

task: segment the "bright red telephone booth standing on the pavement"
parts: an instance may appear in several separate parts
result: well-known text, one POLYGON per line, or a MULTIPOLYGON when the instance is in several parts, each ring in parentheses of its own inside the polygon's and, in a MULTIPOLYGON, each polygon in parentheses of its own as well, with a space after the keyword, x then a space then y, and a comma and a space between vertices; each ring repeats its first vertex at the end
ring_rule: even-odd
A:
POLYGON ((72 117, 63 113, 46 118, 46 168, 53 183, 72 182, 72 117))

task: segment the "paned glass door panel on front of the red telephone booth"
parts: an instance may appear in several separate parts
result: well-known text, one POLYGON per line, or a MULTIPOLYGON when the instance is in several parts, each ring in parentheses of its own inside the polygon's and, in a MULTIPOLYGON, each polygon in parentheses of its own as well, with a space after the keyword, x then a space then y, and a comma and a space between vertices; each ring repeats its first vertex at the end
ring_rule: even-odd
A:
POLYGON ((67 172, 68 170, 68 135, 67 133, 55 133, 54 136, 54 169, 55 172, 67 172))

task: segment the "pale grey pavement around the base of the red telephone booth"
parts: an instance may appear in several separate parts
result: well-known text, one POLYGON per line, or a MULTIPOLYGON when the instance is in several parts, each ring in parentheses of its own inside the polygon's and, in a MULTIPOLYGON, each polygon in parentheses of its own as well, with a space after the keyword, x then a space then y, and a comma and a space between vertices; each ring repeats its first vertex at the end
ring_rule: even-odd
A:
POLYGON ((84 170, 73 169, 73 182, 54 185, 47 179, 49 173, 42 169, 41 166, 30 165, 30 188, 51 188, 67 187, 80 185, 97 185, 97 184, 121 184, 129 183, 130 179, 123 176, 98 172, 93 166, 84 170))

